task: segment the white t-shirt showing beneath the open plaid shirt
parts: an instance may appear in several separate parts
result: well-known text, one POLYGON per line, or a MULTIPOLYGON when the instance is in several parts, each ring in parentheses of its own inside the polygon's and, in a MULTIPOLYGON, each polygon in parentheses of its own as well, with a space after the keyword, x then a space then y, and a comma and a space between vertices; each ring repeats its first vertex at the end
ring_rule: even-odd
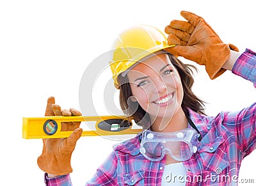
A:
POLYGON ((186 185, 187 170, 182 162, 164 166, 162 186, 186 185))

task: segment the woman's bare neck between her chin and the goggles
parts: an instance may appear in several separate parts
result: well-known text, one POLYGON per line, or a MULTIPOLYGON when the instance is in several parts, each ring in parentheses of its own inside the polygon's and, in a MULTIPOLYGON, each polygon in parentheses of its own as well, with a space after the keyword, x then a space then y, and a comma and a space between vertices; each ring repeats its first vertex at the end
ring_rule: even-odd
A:
POLYGON ((173 114, 172 118, 155 118, 151 121, 154 121, 154 123, 150 128, 155 132, 175 132, 188 127, 188 119, 181 107, 173 114))

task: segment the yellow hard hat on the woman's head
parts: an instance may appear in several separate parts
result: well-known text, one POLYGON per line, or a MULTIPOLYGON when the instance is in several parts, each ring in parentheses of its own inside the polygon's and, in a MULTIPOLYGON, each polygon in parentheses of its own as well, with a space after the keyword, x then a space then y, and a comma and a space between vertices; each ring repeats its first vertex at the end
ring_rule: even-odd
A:
POLYGON ((118 75, 122 72, 149 54, 173 46, 167 44, 164 33, 152 26, 133 26, 120 33, 113 44, 112 60, 109 61, 115 88, 120 88, 118 75))

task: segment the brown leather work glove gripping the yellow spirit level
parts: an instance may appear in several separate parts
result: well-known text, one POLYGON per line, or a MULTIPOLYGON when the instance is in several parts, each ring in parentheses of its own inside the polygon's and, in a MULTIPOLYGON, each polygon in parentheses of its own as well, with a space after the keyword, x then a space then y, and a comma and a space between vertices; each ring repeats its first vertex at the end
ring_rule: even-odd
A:
MULTIPOLYGON (((61 111, 61 107, 55 104, 54 97, 47 100, 45 116, 81 116, 81 112, 76 109, 61 111)), ((61 131, 74 132, 67 138, 43 139, 42 155, 38 157, 37 164, 45 173, 64 175, 72 173, 70 164, 72 152, 75 149, 76 142, 83 132, 79 128, 81 122, 61 123, 61 131)))

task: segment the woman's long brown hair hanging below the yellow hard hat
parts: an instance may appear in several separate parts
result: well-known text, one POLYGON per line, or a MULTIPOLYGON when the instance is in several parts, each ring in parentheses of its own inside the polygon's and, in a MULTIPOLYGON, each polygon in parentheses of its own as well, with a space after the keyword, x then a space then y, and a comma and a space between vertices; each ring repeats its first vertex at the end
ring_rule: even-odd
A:
MULTIPOLYGON (((188 111, 186 108, 189 107, 190 109, 192 109, 197 113, 205 114, 204 112, 205 102, 202 101, 200 98, 196 97, 196 95, 191 90, 194 83, 194 79, 192 76, 193 75, 192 69, 196 70, 197 72, 196 67, 193 65, 182 63, 179 59, 177 59, 172 54, 168 54, 168 56, 173 66, 175 66, 175 68, 177 69, 180 75, 180 80, 182 82, 184 97, 182 100, 181 107, 183 111, 186 114, 188 114, 188 111)), ((121 83, 121 86, 120 86, 120 97, 119 97, 120 106, 123 111, 127 110, 127 114, 129 115, 129 113, 131 113, 132 111, 134 112, 134 108, 132 107, 132 105, 127 104, 128 98, 132 96, 131 86, 129 84, 127 75, 125 75, 125 77, 122 77, 122 75, 120 75, 120 77, 118 77, 118 80, 120 82, 123 82, 121 83)), ((148 123, 150 121, 148 113, 145 110, 143 110, 140 105, 138 105, 138 109, 136 109, 136 111, 133 114, 131 114, 131 116, 129 116, 128 119, 129 121, 134 120, 138 125, 143 125, 143 123, 145 122, 148 123), (142 122, 141 121, 142 119, 145 121, 142 122)))

